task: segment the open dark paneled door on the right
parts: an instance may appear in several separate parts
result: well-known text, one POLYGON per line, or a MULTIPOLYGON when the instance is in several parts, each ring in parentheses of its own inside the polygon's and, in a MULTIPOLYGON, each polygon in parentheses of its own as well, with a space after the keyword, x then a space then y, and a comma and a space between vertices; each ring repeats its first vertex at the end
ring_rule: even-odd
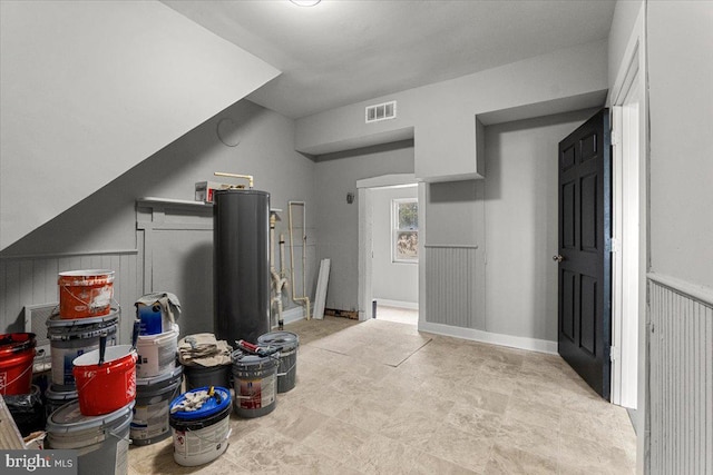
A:
POLYGON ((609 400, 612 154, 608 109, 559 142, 558 350, 609 400))

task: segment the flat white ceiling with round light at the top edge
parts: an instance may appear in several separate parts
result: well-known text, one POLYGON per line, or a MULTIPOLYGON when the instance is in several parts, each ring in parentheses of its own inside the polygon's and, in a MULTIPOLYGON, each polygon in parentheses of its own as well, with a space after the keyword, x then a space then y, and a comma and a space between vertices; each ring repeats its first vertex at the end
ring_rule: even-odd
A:
POLYGON ((248 96, 300 118, 607 38, 614 0, 164 0, 283 71, 248 96))

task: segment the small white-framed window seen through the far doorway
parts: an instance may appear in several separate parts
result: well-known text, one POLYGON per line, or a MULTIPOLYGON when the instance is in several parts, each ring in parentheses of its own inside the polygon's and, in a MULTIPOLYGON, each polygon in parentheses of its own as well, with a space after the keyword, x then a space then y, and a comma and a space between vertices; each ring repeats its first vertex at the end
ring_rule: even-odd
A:
POLYGON ((416 198, 394 199, 391 207, 392 260, 419 261, 419 204, 416 198))

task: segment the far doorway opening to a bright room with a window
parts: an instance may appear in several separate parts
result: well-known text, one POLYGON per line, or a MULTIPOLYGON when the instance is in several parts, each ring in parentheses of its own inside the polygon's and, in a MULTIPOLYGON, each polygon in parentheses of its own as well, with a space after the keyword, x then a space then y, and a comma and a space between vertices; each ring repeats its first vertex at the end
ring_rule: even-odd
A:
POLYGON ((356 182, 359 190, 359 318, 418 324, 418 239, 422 210, 411 174, 356 182), (401 225, 399 228, 399 212, 401 225), (418 210, 416 216, 412 215, 418 210), (411 215, 410 215, 411 214, 411 215), (411 216, 411 219, 409 219, 411 216), (409 226, 410 225, 410 226, 409 226), (413 226, 416 225, 416 226, 413 226), (401 245, 401 246, 400 246, 401 245))

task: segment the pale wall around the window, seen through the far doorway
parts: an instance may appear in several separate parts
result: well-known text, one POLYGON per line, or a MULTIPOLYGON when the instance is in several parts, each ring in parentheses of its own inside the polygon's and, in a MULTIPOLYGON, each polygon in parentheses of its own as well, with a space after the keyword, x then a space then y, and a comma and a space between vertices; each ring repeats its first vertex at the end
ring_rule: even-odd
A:
POLYGON ((418 187, 374 188, 370 192, 373 205, 373 298, 418 304, 418 263, 394 263, 391 253, 391 202, 398 198, 418 198, 418 187))

